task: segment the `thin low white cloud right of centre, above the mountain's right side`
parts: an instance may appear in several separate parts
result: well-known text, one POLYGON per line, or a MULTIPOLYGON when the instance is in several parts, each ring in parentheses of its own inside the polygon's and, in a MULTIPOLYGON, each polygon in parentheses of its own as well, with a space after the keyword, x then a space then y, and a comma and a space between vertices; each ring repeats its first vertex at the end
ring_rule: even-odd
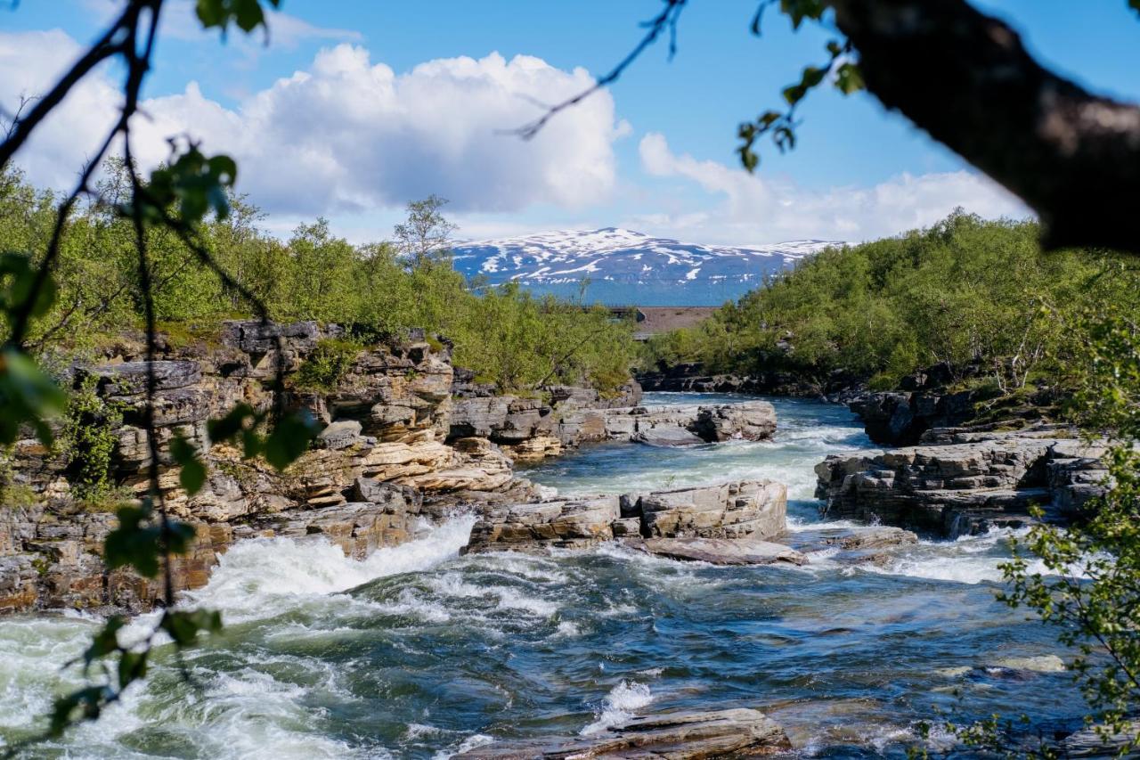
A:
POLYGON ((638 149, 648 173, 685 178, 719 197, 719 204, 707 210, 651 213, 643 220, 662 234, 702 242, 771 243, 804 237, 858 242, 928 226, 955 207, 988 218, 1029 213, 1005 189, 964 170, 903 173, 871 187, 814 192, 765 176, 763 170, 749 175, 739 167, 677 155, 658 132, 643 137, 638 149))

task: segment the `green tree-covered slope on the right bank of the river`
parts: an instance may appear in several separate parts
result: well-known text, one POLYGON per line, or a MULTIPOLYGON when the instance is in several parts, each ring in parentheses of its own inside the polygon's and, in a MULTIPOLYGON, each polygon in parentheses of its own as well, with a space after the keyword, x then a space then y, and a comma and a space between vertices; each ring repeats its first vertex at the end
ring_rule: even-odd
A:
POLYGON ((1042 253, 1032 223, 955 212, 928 229, 828 249, 695 328, 654 337, 643 364, 709 371, 844 370, 891 388, 946 362, 1002 393, 1034 373, 1062 378, 1085 340, 1083 299, 1140 310, 1140 272, 1105 251, 1042 253))

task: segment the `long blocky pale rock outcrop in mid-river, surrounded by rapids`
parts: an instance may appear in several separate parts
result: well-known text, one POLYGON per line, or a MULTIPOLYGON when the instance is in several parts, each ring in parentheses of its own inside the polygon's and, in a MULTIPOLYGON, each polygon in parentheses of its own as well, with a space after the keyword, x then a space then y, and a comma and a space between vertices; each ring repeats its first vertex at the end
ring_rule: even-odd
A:
POLYGON ((763 541, 783 534, 787 511, 787 490, 769 480, 551 499, 490 507, 472 528, 466 551, 581 549, 627 537, 763 541))

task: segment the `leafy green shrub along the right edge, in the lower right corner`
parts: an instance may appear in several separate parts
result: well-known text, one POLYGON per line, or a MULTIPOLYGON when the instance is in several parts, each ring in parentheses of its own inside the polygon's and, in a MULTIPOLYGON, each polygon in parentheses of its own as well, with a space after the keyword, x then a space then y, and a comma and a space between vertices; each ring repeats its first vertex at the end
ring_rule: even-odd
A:
MULTIPOLYGON (((1082 508, 1067 527, 1039 524, 1012 540, 1002 565, 1008 589, 999 599, 1027 607, 1057 626, 1074 650, 1069 670, 1088 702, 1086 721, 1123 757, 1140 746, 1140 326, 1112 305, 1082 308, 1068 326, 1083 338, 1072 364, 1074 419, 1109 436, 1106 493, 1082 508), (1044 573, 1032 564, 1044 565, 1044 573)), ((1039 517, 1043 514, 1039 510, 1039 517)), ((1008 752, 1032 719, 1000 715, 967 726, 947 725, 966 745, 1008 752)), ((1106 747, 1107 752, 1107 747, 1106 747)), ((1018 754, 1059 757, 1049 743, 1018 754)))

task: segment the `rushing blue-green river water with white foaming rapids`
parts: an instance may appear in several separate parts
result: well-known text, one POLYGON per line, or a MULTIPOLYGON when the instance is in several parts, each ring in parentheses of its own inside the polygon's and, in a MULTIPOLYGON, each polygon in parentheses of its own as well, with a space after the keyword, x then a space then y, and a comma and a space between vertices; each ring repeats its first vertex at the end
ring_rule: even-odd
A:
MULTIPOLYGON (((771 442, 604 444, 526 475, 562 493, 777 479, 795 544, 820 527, 813 466, 870 444, 842 407, 773 402, 771 442)), ((938 710, 1024 711, 1050 727, 1083 714, 1054 631, 994 601, 1001 533, 904 547, 881 567, 824 551, 801 568, 741 568, 612 545, 461 558, 473 522, 456 517, 363 561, 319 542, 235 545, 186 595, 226 620, 221 637, 187 653, 193 684, 165 652, 122 704, 35 757, 432 758, 724 706, 767 711, 797 755, 878 757, 905 754, 938 710)), ((59 665, 96 624, 0 620, 0 736, 41 726, 51 695, 79 682, 59 665)))

